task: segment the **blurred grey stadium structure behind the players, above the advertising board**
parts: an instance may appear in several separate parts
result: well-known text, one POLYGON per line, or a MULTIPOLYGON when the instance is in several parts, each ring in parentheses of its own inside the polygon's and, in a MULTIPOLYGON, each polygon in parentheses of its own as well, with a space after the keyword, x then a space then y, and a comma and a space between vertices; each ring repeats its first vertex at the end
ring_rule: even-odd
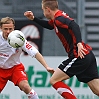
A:
MULTIPOLYGON (((92 46, 99 56, 99 0, 58 0, 59 8, 74 18, 81 28, 83 40, 92 46)), ((24 12, 32 10, 36 17, 45 19, 41 0, 0 0, 0 18, 12 17, 16 21, 26 21, 24 12)), ((21 22, 20 22, 21 24, 21 22)), ((41 53, 44 56, 65 56, 54 30, 43 29, 41 53)))

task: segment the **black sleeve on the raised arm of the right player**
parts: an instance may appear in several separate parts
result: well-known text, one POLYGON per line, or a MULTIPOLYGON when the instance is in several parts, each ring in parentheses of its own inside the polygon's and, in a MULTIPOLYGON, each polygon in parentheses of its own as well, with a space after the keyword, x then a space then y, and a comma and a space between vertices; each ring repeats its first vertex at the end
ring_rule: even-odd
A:
POLYGON ((33 21, 36 22, 37 24, 41 25, 44 28, 47 28, 47 29, 50 29, 50 30, 54 29, 54 25, 53 25, 52 20, 47 21, 47 20, 38 19, 38 18, 35 17, 33 21))

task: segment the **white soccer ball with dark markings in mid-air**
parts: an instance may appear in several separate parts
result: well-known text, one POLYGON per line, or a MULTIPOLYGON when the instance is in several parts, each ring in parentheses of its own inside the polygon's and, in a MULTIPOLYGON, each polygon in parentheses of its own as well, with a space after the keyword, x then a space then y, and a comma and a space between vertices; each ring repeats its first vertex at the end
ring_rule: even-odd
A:
POLYGON ((21 31, 14 30, 8 35, 7 40, 12 47, 19 48, 24 45, 25 36, 21 31))

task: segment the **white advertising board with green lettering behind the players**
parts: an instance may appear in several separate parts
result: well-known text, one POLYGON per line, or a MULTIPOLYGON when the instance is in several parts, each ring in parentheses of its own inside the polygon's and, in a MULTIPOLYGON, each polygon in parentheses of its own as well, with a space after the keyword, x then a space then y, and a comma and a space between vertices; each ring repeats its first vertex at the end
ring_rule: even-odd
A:
MULTIPOLYGON (((56 69, 58 65, 67 57, 44 57, 50 67, 56 69)), ((49 83, 51 74, 35 59, 30 56, 22 56, 23 62, 30 86, 38 93, 40 99, 63 99, 49 83)), ((97 63, 99 57, 97 57, 97 63)), ((99 63, 98 63, 99 65, 99 63)), ((92 93, 87 84, 79 82, 74 76, 71 79, 64 81, 70 86, 77 99, 99 99, 92 93)), ((28 99, 24 92, 20 91, 12 82, 8 82, 2 93, 0 99, 28 99)))

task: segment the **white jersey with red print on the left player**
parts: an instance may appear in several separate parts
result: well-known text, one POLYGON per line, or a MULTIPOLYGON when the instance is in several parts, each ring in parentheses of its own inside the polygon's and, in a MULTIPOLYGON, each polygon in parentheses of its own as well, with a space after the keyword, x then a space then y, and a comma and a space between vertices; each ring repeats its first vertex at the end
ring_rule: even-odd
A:
POLYGON ((22 50, 27 52, 30 56, 35 57, 38 50, 32 46, 27 40, 20 48, 13 48, 9 45, 0 32, 0 68, 8 69, 14 65, 20 64, 20 55, 22 50))

